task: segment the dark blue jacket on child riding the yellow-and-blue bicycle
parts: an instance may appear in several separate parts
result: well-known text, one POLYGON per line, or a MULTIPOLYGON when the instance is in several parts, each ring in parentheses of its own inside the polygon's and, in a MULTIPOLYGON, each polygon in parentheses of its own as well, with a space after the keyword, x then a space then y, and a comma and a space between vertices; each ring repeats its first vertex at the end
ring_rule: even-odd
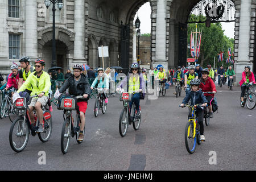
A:
POLYGON ((191 101, 191 105, 208 103, 202 90, 197 90, 196 92, 188 92, 182 101, 182 104, 187 104, 189 100, 191 101))

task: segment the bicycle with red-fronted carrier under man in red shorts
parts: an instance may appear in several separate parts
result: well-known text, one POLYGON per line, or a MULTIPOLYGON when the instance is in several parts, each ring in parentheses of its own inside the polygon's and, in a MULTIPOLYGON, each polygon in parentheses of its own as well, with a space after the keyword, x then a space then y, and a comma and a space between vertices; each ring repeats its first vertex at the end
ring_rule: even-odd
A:
MULTIPOLYGON (((71 96, 72 97, 72 96, 71 96)), ((82 96, 76 96, 77 99, 82 98, 82 96)), ((60 147, 61 152, 66 154, 68 152, 69 140, 76 135, 77 143, 82 143, 82 141, 77 140, 79 137, 80 131, 80 113, 76 113, 76 119, 72 117, 72 110, 76 110, 76 103, 74 98, 63 98, 61 100, 60 109, 63 110, 63 127, 61 130, 61 139, 60 139, 60 147), (71 122, 72 121, 72 122, 71 122)), ((85 126, 84 126, 85 131, 85 126)), ((84 133, 83 133, 84 134, 84 133)))

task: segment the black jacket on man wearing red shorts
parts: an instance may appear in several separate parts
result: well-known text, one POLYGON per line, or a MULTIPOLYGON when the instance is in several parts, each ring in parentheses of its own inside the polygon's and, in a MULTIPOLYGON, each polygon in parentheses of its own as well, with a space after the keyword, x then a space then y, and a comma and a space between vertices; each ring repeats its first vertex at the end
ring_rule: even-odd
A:
POLYGON ((90 84, 88 81, 88 78, 81 73, 81 79, 77 86, 75 86, 75 80, 74 75, 70 76, 67 81, 64 82, 64 84, 59 89, 60 93, 65 92, 65 90, 69 88, 69 94, 74 96, 82 96, 83 94, 88 94, 88 98, 81 98, 79 101, 88 101, 90 97, 90 84))

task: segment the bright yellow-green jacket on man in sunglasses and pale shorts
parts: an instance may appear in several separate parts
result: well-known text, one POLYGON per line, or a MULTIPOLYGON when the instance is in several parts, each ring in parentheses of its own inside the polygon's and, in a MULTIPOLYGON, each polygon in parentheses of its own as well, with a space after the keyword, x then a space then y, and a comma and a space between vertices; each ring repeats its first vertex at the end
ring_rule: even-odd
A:
POLYGON ((36 72, 31 73, 27 80, 20 86, 19 90, 17 91, 22 92, 24 91, 28 85, 32 86, 32 92, 31 96, 34 96, 35 94, 40 94, 44 92, 45 96, 48 96, 49 88, 51 87, 51 80, 47 72, 42 73, 42 75, 38 78, 36 75, 36 72))

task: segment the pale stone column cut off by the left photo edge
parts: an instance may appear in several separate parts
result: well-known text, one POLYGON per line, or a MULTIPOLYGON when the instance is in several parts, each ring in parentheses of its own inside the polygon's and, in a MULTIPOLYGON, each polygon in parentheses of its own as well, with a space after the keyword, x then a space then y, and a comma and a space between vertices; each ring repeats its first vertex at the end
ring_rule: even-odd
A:
POLYGON ((5 65, 6 67, 9 67, 9 62, 6 61, 9 59, 8 55, 8 42, 9 42, 9 35, 7 32, 7 15, 8 15, 8 9, 7 9, 7 2, 1 0, 0 1, 0 62, 1 65, 5 65))

